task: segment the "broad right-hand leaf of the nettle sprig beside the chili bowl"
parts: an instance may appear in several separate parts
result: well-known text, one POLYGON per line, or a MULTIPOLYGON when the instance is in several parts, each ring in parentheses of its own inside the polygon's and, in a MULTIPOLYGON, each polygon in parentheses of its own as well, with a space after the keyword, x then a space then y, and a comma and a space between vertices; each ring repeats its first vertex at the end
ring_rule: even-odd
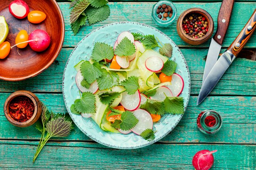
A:
POLYGON ((72 129, 72 121, 67 121, 65 116, 51 119, 46 124, 46 131, 51 137, 66 137, 72 129))

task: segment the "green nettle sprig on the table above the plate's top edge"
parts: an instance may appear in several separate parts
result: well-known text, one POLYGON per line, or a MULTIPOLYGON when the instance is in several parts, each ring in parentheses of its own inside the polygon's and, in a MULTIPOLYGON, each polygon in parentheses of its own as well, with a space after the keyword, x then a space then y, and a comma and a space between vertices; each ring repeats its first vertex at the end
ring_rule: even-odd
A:
POLYGON ((81 26, 89 25, 106 20, 110 15, 108 0, 69 0, 71 29, 76 35, 81 26))

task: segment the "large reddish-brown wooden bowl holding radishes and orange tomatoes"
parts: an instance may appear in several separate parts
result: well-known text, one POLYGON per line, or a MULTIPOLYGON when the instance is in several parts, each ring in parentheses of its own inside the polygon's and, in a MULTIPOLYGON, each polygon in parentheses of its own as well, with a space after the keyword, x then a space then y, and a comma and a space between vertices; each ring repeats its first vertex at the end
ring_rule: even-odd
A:
POLYGON ((0 59, 0 79, 20 81, 42 73, 54 62, 63 45, 65 25, 61 9, 55 0, 24 0, 29 6, 29 11, 39 10, 47 15, 39 24, 30 23, 27 17, 22 20, 13 17, 8 9, 12 1, 3 0, 0 5, 0 15, 4 16, 9 25, 9 35, 5 41, 13 46, 16 35, 22 29, 28 34, 36 29, 43 29, 51 38, 49 47, 43 52, 35 52, 29 45, 24 49, 13 47, 5 59, 0 59))

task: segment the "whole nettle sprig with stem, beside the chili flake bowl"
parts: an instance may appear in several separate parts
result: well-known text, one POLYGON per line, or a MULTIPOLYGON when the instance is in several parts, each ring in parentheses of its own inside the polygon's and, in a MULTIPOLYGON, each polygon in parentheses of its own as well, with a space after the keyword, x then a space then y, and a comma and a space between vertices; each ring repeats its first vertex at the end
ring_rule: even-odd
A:
POLYGON ((39 130, 42 135, 33 162, 35 162, 40 151, 51 137, 67 137, 74 128, 73 121, 68 113, 53 113, 46 108, 45 104, 42 102, 41 104, 41 119, 36 121, 36 129, 39 130))

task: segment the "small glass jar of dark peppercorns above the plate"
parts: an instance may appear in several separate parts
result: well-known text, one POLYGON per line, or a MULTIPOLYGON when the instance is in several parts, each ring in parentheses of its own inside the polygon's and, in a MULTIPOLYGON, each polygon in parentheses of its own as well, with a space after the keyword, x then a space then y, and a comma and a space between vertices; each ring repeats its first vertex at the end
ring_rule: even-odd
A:
MULTIPOLYGON (((170 12, 168 12, 169 14, 170 12)), ((169 0, 160 0, 159 2, 157 2, 154 6, 153 6, 153 9, 152 9, 152 18, 153 20, 155 21, 155 23, 159 26, 169 26, 171 23, 173 23, 175 21, 175 18, 176 18, 176 15, 177 15, 177 9, 176 7, 174 6, 173 2, 169 1, 169 0), (173 9, 173 15, 172 17, 167 17, 167 20, 162 20, 163 17, 160 19, 158 18, 158 15, 163 15, 163 13, 159 13, 157 14, 157 7, 159 5, 162 5, 162 4, 166 4, 166 5, 170 5, 170 7, 173 9)))

